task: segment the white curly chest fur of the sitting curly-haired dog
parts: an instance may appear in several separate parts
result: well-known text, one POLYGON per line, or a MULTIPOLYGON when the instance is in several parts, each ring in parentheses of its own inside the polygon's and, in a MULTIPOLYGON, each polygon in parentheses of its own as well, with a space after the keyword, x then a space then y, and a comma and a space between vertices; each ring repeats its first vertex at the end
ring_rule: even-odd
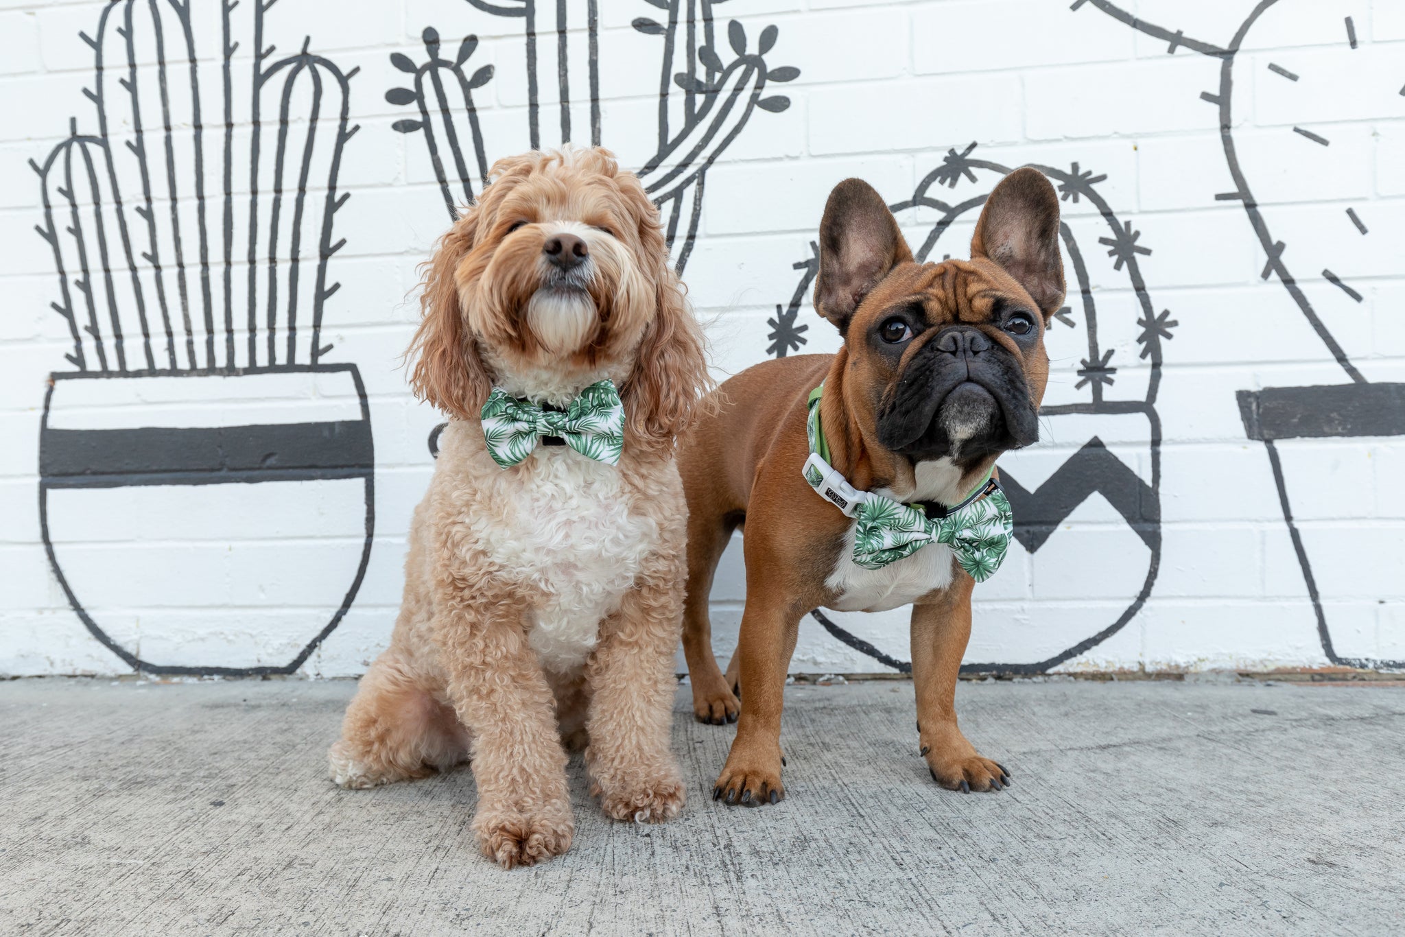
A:
POLYGON ((573 670, 658 548, 659 527, 632 510, 615 466, 568 447, 538 447, 492 483, 500 513, 479 527, 478 546, 540 597, 528 639, 542 666, 573 670))

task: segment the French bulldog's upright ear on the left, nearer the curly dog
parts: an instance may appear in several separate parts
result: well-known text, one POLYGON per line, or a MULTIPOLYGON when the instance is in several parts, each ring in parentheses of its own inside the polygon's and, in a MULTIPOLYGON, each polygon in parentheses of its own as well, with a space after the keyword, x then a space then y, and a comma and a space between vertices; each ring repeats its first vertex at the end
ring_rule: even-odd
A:
POLYGON ((861 178, 846 178, 829 194, 819 222, 815 310, 843 334, 868 291, 908 260, 912 250, 882 195, 861 178))

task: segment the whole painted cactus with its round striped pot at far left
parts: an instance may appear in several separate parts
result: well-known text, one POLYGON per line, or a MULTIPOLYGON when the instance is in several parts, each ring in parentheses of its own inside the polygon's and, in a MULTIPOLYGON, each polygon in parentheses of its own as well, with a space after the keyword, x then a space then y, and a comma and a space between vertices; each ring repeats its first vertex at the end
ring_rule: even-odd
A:
POLYGON ((278 58, 266 30, 274 3, 112 0, 80 34, 93 115, 32 163, 53 310, 73 341, 72 369, 45 396, 44 539, 89 631, 152 673, 296 670, 341 621, 370 556, 365 391, 355 365, 326 360, 323 334, 355 69, 311 52, 311 39, 278 58), (273 622, 257 607, 288 570, 215 541, 222 524, 260 517, 261 502, 284 504, 288 486, 298 502, 346 500, 357 520, 343 569, 299 573, 326 575, 303 583, 320 604, 273 622), (83 520, 94 513, 121 518, 132 551, 96 551, 83 520), (145 544, 146 568, 94 569, 94 556, 121 565, 145 544), (163 593, 177 570, 162 563, 200 556, 209 563, 181 566, 194 591, 173 605, 163 593), (221 608, 235 617, 215 622, 221 608))

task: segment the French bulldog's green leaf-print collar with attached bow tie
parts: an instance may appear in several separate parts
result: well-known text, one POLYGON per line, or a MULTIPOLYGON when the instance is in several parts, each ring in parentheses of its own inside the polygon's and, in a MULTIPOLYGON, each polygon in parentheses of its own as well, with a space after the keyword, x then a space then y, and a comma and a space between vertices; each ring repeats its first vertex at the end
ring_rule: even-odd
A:
POLYGON ((860 492, 829 464, 829 445, 819 423, 823 388, 819 385, 809 393, 805 480, 844 517, 856 520, 854 563, 864 569, 882 569, 927 544, 946 544, 974 580, 989 579, 1005 561, 1014 535, 1014 516, 1000 483, 988 472, 975 490, 954 507, 903 504, 882 494, 860 492))

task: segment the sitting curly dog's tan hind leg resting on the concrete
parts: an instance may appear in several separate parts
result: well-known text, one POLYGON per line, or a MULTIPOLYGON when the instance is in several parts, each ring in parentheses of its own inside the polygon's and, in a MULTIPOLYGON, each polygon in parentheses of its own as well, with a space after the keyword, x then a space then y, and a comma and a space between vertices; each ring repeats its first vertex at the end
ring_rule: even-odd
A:
POLYGON ((388 650, 361 677, 327 763, 340 787, 368 788, 447 770, 468 757, 468 743, 454 711, 388 650))

